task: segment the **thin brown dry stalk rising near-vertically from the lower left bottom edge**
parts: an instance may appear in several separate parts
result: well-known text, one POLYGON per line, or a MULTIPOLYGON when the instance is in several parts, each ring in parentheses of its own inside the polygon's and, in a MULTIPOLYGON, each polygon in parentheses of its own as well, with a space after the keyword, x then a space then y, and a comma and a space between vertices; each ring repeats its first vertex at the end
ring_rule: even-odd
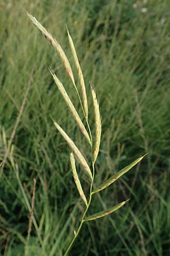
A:
POLYGON ((27 234, 27 242, 26 242, 26 245, 25 245, 25 254, 24 254, 24 256, 28 255, 29 238, 30 238, 31 229, 32 229, 33 208, 34 208, 34 204, 35 204, 35 191, 36 191, 36 179, 33 179, 32 199, 31 199, 31 213, 30 213, 30 216, 29 216, 28 234, 27 234))

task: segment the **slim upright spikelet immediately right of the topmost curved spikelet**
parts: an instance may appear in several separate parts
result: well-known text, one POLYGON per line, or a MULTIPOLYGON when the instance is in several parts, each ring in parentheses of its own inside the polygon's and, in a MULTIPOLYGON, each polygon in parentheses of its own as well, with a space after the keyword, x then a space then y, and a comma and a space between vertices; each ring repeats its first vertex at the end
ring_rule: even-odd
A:
POLYGON ((73 39, 70 36, 67 26, 66 26, 66 29, 67 29, 67 34, 68 34, 68 38, 69 38, 70 48, 73 53, 74 62, 75 62, 76 70, 78 71, 79 81, 80 81, 80 85, 81 85, 81 89, 82 89, 84 113, 86 114, 86 119, 88 119, 88 103, 87 103, 86 87, 84 85, 83 73, 82 73, 82 69, 80 68, 78 57, 76 55, 73 39))

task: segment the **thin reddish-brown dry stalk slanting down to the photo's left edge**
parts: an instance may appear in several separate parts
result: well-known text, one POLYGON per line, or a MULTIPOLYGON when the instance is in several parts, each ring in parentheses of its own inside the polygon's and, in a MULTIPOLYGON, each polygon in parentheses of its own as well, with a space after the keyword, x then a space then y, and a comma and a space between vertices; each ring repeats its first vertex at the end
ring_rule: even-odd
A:
POLYGON ((3 174, 3 168, 5 167, 7 157, 9 155, 9 153, 10 153, 10 148, 11 148, 12 141, 14 140, 14 137, 15 137, 16 129, 17 129, 18 125, 19 125, 20 118, 22 117, 22 114, 23 114, 23 111, 24 111, 25 102, 27 100, 28 92, 29 92, 29 89, 30 89, 30 86, 31 86, 31 82, 32 82, 32 79, 33 79, 33 71, 34 71, 34 69, 35 69, 35 65, 33 65, 32 69, 31 69, 31 73, 30 73, 30 76, 29 76, 29 81, 28 81, 28 84, 27 84, 27 89, 26 89, 25 94, 24 94, 22 105, 20 107, 19 114, 18 114, 18 117, 17 117, 15 125, 14 125, 14 129, 12 130, 10 141, 8 142, 6 154, 5 154, 4 158, 3 158, 3 162, 1 163, 2 166, 1 166, 1 172, 0 172, 0 180, 1 180, 1 177, 2 177, 2 174, 3 174))

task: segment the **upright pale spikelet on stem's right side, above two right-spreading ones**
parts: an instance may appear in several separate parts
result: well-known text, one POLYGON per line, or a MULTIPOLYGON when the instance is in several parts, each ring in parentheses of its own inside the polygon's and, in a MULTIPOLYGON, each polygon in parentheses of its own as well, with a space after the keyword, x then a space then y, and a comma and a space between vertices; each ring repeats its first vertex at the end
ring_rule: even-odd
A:
POLYGON ((92 85, 91 82, 90 82, 90 85, 91 85, 91 93, 92 93, 94 112, 95 112, 95 143, 94 143, 93 157, 92 157, 92 162, 95 163, 97 155, 99 154, 99 147, 100 147, 101 117, 100 117, 99 102, 97 101, 97 98, 96 98, 94 85, 92 85))

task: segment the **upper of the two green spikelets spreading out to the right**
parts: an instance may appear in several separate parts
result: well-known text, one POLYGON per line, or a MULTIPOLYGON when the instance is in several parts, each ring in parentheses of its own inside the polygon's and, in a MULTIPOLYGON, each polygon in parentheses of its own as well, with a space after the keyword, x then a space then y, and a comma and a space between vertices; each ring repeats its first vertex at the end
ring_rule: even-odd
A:
POLYGON ((114 174, 110 179, 102 183, 98 188, 96 188, 92 193, 96 193, 101 191, 104 188, 107 188, 109 185, 111 185, 114 181, 119 179, 122 175, 124 175, 126 172, 128 172, 131 168, 133 168, 136 164, 138 164, 146 155, 141 156, 141 158, 136 159, 134 162, 129 164, 129 166, 126 166, 121 171, 119 171, 117 174, 114 174))

